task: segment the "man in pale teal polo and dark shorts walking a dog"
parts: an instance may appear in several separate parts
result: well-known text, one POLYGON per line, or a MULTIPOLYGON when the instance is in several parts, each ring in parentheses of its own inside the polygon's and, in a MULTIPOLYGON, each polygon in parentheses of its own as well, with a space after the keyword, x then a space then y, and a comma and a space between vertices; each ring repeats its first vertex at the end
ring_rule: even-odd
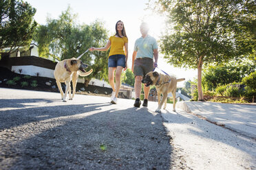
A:
MULTIPOLYGON (((140 33, 142 36, 138 38, 134 45, 134 53, 132 55, 131 71, 135 75, 135 107, 140 107, 140 92, 141 81, 149 71, 153 71, 153 68, 158 66, 158 43, 156 39, 149 36, 149 25, 147 23, 141 23, 140 33), (154 59, 154 61, 153 61, 154 59)), ((149 97, 150 87, 144 85, 144 101, 142 106, 147 107, 147 101, 149 97)))

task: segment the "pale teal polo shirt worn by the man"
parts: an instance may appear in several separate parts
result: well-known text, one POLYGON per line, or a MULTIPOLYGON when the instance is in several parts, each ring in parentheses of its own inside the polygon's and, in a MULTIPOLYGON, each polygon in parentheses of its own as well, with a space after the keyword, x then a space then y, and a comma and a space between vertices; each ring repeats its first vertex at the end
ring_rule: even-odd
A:
POLYGON ((134 51, 137 51, 136 58, 152 58, 153 49, 158 49, 158 43, 153 36, 147 35, 145 38, 138 38, 134 45, 134 51))

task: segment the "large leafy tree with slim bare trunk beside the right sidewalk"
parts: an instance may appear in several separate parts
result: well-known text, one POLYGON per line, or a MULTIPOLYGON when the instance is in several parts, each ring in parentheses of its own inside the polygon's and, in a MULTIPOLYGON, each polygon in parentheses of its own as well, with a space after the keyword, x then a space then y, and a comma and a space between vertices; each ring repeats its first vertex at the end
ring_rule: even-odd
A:
MULTIPOLYGON (((244 40, 250 36, 247 33, 251 25, 243 29, 244 33, 236 31, 246 23, 238 15, 247 3, 253 1, 158 0, 153 4, 155 10, 168 18, 167 32, 160 39, 164 58, 174 66, 198 69, 199 100, 203 100, 203 64, 225 63, 253 53, 255 41, 244 40)), ((246 10, 243 14, 247 20, 254 17, 255 21, 253 11, 246 10)))

